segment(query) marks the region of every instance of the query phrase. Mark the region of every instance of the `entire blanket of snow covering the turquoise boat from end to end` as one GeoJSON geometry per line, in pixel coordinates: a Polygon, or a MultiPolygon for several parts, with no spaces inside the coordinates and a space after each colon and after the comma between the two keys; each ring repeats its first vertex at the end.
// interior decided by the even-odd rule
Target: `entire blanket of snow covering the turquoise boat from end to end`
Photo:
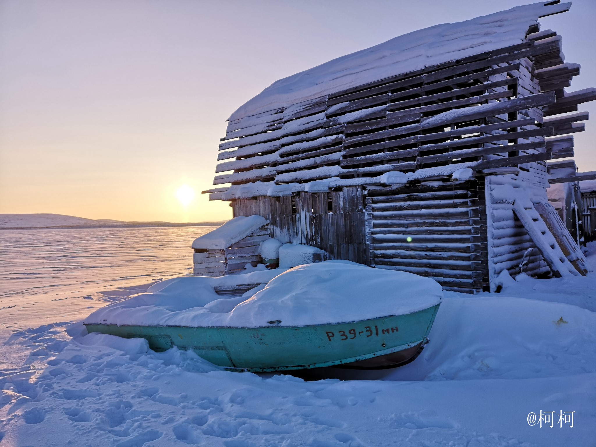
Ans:
{"type": "Polygon", "coordinates": [[[275,277],[265,288],[240,297],[216,294],[214,287],[222,284],[220,278],[189,276],[160,281],[148,293],[98,309],[85,323],[266,327],[268,321],[281,320],[283,326],[333,324],[417,312],[436,305],[443,296],[439,283],[430,278],[336,260],[285,272],[253,272],[242,275],[246,278],[240,281],[264,283],[267,275],[268,279],[275,277]],[[283,273],[277,275],[279,272],[283,273]]]}

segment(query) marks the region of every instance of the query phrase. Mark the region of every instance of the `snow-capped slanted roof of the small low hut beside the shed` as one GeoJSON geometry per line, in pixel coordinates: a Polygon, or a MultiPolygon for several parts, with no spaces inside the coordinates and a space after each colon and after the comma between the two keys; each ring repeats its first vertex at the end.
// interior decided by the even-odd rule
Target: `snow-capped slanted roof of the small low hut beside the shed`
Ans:
{"type": "Polygon", "coordinates": [[[262,216],[238,216],[213,231],[197,237],[193,241],[193,249],[227,249],[267,223],[268,221],[262,216]]]}

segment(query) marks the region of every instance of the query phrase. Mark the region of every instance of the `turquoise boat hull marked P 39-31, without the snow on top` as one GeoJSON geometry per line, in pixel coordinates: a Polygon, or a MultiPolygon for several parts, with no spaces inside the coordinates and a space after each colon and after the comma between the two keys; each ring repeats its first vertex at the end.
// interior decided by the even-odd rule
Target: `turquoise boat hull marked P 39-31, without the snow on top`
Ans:
{"type": "Polygon", "coordinates": [[[184,327],[85,324],[89,333],[143,338],[156,352],[177,346],[228,371],[266,373],[343,366],[392,368],[428,342],[439,304],[418,312],[339,324],[184,327]]]}

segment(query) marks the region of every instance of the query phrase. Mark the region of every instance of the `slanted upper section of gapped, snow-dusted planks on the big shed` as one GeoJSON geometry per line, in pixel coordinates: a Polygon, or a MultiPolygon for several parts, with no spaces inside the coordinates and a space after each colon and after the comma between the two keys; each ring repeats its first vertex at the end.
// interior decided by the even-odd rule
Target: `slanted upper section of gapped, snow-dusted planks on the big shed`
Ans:
{"type": "Polygon", "coordinates": [[[218,159],[232,160],[218,164],[217,172],[228,173],[213,183],[355,178],[470,161],[482,162],[480,171],[547,160],[552,151],[568,156],[572,139],[539,143],[582,131],[577,122],[586,117],[543,124],[536,110],[567,111],[593,99],[594,92],[566,94],[556,83],[579,72],[574,64],[560,63],[560,36],[529,37],[523,44],[231,122],[218,159]],[[542,68],[533,72],[533,63],[542,68]],[[476,107],[480,104],[491,107],[476,107]]]}

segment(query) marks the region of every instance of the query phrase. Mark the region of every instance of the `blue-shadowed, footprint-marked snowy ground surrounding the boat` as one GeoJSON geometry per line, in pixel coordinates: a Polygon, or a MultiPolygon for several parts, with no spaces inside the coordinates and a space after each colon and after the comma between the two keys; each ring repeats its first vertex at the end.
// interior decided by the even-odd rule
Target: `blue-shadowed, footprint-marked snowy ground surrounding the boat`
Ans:
{"type": "Polygon", "coordinates": [[[21,300],[0,310],[0,446],[594,446],[596,278],[519,279],[446,293],[418,359],[370,372],[229,373],[86,334],[93,309],[149,284],[96,293],[66,318],[64,302],[38,303],[42,318],[21,300]],[[541,411],[552,428],[528,424],[541,411]]]}

